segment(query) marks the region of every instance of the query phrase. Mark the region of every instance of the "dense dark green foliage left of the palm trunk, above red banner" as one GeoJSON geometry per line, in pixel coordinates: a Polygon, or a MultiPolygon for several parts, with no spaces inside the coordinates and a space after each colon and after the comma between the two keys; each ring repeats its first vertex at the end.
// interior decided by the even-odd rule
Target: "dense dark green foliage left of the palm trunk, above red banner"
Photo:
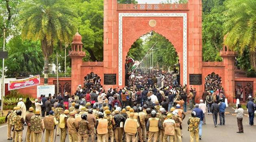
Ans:
{"type": "Polygon", "coordinates": [[[43,54],[38,41],[22,41],[16,36],[7,44],[7,72],[42,72],[43,54]]]}

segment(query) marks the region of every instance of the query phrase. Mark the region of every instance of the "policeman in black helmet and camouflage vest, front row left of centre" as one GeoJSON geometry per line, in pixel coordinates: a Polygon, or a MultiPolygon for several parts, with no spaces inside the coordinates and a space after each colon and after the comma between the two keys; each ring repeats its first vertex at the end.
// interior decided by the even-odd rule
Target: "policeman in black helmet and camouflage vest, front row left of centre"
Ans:
{"type": "Polygon", "coordinates": [[[81,118],[82,120],[78,122],[78,142],[82,142],[82,139],[87,142],[89,138],[87,114],[82,114],[81,118]]]}

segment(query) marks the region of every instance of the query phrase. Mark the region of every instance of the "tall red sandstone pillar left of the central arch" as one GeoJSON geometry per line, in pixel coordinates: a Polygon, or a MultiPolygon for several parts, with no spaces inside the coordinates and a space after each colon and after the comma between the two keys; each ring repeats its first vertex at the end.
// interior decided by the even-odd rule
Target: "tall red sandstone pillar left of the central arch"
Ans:
{"type": "MultiPolygon", "coordinates": [[[[116,74],[118,85],[118,39],[117,39],[117,0],[104,0],[104,74],[116,74]]],[[[102,85],[104,76],[102,77],[102,85]]],[[[104,85],[105,89],[117,85],[104,85]]]]}

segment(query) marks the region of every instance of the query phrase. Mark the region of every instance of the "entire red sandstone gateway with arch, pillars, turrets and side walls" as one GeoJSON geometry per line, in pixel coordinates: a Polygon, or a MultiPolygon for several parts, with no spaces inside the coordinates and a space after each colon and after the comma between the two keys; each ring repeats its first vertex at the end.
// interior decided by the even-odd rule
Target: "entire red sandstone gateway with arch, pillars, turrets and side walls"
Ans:
{"type": "MultiPolygon", "coordinates": [[[[202,62],[202,0],[189,0],[187,4],[117,4],[117,0],[104,0],[104,60],[82,61],[85,52],[82,51],[82,37],[77,32],[69,52],[72,58],[71,93],[84,83],[83,78],[91,72],[101,77],[101,83],[105,82],[104,88],[124,87],[127,53],[136,39],[152,30],[174,45],[180,59],[181,84],[191,84],[189,76],[202,75],[202,84],[192,86],[199,93],[197,101],[202,96],[205,77],[213,72],[221,77],[229,102],[233,102],[235,81],[250,81],[256,93],[256,78],[235,78],[236,52],[228,47],[223,46],[220,52],[223,62],[202,62]],[[106,78],[108,80],[104,81],[106,78]]],[[[54,80],[49,78],[49,84],[54,80]]],[[[67,82],[70,78],[59,80],[67,82]]],[[[35,89],[30,89],[36,96],[35,89]]],[[[26,91],[27,94],[28,90],[20,89],[20,92],[26,91]]]]}

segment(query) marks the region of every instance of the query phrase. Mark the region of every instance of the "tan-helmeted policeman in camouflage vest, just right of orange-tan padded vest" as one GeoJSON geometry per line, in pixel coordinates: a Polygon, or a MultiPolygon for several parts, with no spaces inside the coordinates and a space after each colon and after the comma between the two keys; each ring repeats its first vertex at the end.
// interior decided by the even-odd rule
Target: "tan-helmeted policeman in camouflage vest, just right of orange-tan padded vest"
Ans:
{"type": "Polygon", "coordinates": [[[108,137],[110,137],[110,142],[114,142],[114,132],[113,126],[115,126],[114,117],[111,116],[110,110],[105,110],[106,116],[104,118],[108,120],[108,133],[106,134],[106,140],[108,141],[108,137]]]}

